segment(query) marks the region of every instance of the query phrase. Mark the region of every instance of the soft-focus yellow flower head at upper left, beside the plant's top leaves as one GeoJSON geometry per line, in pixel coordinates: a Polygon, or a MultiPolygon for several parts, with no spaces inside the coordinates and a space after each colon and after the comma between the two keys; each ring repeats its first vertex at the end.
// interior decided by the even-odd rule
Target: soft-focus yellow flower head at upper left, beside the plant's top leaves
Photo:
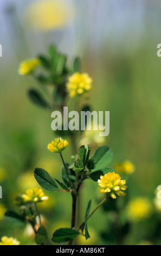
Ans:
{"type": "Polygon", "coordinates": [[[24,62],[20,63],[20,67],[18,69],[18,74],[20,75],[28,75],[32,71],[35,70],[35,68],[40,65],[40,60],[39,59],[29,59],[25,60],[24,62]]]}

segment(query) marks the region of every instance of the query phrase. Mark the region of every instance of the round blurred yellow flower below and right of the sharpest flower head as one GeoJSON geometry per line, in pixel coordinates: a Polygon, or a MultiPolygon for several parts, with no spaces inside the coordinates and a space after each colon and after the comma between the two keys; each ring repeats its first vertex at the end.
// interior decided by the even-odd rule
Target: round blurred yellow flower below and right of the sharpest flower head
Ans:
{"type": "Polygon", "coordinates": [[[127,217],[131,221],[140,221],[143,218],[149,217],[152,211],[152,206],[146,198],[138,197],[128,203],[126,212],[127,217]]]}

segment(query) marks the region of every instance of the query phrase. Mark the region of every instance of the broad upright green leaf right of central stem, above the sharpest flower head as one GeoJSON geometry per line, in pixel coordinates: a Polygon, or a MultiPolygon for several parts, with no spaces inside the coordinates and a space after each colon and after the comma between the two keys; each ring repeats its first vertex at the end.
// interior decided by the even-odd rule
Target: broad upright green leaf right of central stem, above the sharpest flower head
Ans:
{"type": "Polygon", "coordinates": [[[102,146],[98,148],[93,156],[94,162],[95,162],[95,168],[94,170],[101,170],[102,168],[106,167],[113,158],[113,151],[107,147],[102,146]]]}

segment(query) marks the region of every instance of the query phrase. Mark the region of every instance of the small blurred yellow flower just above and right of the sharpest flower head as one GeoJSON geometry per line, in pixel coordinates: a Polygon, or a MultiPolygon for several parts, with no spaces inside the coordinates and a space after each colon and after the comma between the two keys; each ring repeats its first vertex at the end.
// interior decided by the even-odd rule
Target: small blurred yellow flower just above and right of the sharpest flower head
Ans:
{"type": "Polygon", "coordinates": [[[122,163],[118,163],[115,166],[115,171],[117,173],[125,173],[132,174],[135,170],[134,164],[130,161],[124,161],[122,163]]]}

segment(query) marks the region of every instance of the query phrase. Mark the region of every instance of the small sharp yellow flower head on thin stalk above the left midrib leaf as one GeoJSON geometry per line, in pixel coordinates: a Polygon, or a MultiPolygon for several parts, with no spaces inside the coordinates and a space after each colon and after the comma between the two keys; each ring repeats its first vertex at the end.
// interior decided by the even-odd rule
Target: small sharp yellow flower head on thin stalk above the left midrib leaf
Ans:
{"type": "Polygon", "coordinates": [[[48,144],[48,150],[50,152],[61,153],[68,144],[69,143],[66,139],[56,138],[55,141],[51,141],[51,143],[48,144]]]}

